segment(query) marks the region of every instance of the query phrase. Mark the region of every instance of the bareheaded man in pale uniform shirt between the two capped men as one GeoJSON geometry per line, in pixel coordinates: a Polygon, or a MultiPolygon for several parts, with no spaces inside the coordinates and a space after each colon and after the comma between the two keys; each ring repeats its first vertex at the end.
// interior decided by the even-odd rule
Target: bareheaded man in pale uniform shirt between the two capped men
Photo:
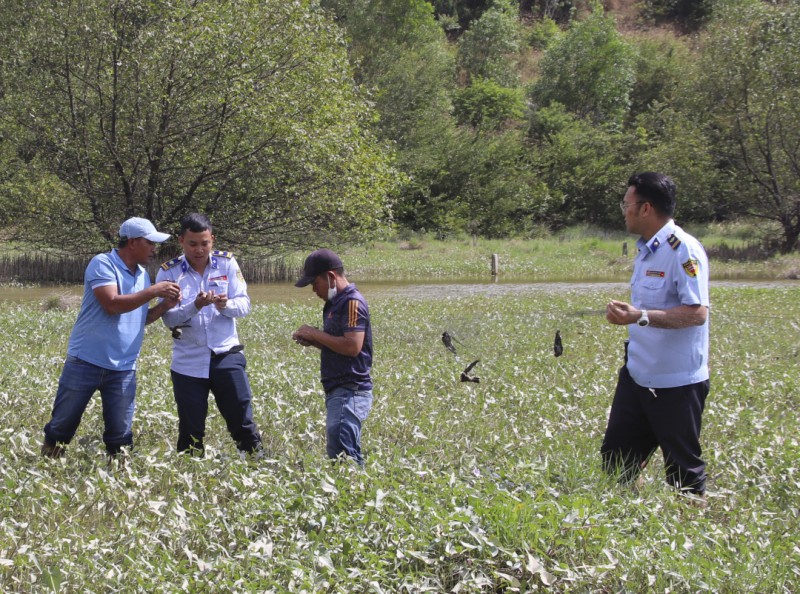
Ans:
{"type": "Polygon", "coordinates": [[[183,217],[178,240],[183,255],[162,264],[156,277],[181,288],[180,303],[163,317],[173,335],[177,449],[203,454],[210,391],[241,455],[260,453],[244,347],[236,332],[236,318],[250,313],[247,283],[233,254],[213,249],[205,215],[183,217]]]}

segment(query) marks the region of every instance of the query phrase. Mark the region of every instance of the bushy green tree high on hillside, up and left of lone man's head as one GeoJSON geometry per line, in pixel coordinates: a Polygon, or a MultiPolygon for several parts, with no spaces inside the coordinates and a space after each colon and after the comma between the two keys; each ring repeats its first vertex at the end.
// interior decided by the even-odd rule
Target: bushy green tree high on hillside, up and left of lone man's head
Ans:
{"type": "Polygon", "coordinates": [[[545,52],[531,90],[537,108],[560,103],[594,122],[621,123],[630,105],[634,52],[599,4],[545,52]]]}

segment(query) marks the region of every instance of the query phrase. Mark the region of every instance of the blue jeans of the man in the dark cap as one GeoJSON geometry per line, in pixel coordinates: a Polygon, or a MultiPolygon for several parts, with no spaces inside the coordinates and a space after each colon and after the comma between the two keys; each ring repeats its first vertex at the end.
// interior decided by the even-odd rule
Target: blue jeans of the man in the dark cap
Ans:
{"type": "Polygon", "coordinates": [[[334,388],[325,397],[325,408],[328,457],[336,458],[344,452],[364,466],[361,423],[372,408],[372,391],[334,388]]]}

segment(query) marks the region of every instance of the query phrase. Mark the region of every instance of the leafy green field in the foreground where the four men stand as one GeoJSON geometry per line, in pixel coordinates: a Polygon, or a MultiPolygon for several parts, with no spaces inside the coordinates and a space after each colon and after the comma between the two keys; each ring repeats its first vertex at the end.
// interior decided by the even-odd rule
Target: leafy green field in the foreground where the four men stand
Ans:
{"type": "Polygon", "coordinates": [[[0,591],[796,592],[798,290],[712,287],[706,509],[664,485],[660,459],[638,492],[600,471],[625,331],[584,313],[611,297],[627,295],[372,299],[365,471],[324,459],[318,355],[290,340],[320,303],[240,324],[258,462],[216,411],[205,459],[173,453],[170,340],[149,327],[122,466],[98,398],[66,458],[38,456],[76,310],[0,304],[0,591]],[[473,357],[481,383],[462,384],[473,357]]]}

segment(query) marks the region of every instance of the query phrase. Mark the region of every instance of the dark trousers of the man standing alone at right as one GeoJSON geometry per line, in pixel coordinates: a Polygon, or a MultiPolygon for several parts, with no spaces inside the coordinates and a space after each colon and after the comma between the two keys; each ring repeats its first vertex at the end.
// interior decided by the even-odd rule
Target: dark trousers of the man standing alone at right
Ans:
{"type": "Polygon", "coordinates": [[[632,481],[660,447],[667,482],[681,491],[705,493],[700,426],[708,391],[706,380],[653,393],[623,366],[600,448],[606,472],[620,473],[620,482],[632,481]]]}

